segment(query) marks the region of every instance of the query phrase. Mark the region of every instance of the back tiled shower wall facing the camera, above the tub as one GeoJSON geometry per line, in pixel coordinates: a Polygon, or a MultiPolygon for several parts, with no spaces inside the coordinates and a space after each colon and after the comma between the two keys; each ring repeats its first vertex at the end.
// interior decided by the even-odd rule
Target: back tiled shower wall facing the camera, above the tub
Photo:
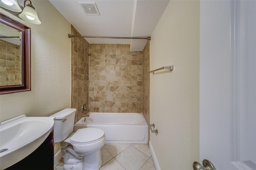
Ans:
{"type": "Polygon", "coordinates": [[[90,44],[91,112],[142,112],[142,51],[129,44],[90,44]]]}

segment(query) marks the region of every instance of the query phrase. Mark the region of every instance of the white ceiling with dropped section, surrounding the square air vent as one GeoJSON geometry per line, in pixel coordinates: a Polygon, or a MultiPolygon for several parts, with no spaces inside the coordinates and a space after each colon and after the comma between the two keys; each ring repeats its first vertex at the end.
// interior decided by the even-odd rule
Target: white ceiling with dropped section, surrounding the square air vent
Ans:
{"type": "MultiPolygon", "coordinates": [[[[50,0],[82,36],[149,37],[169,0],[50,0]],[[95,2],[100,16],[88,16],[80,5],[95,2]]],[[[67,35],[68,36],[68,35],[67,35]]],[[[89,43],[130,44],[142,51],[147,40],[86,38],[89,43]]]]}

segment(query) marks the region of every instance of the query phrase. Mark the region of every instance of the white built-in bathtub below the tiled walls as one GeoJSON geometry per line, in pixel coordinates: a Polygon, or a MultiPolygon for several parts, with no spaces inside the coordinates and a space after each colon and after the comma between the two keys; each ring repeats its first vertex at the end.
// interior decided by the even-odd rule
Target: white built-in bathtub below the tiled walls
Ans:
{"type": "Polygon", "coordinates": [[[80,128],[94,127],[104,130],[106,143],[148,143],[148,125],[142,113],[89,113],[74,125],[80,128]]]}

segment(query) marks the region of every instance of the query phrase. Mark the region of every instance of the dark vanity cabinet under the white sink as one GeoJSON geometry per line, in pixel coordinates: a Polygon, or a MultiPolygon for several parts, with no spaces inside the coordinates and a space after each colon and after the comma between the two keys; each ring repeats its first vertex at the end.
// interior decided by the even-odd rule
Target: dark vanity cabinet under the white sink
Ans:
{"type": "Polygon", "coordinates": [[[53,161],[54,138],[52,130],[46,140],[34,152],[5,170],[53,170],[53,161]]]}

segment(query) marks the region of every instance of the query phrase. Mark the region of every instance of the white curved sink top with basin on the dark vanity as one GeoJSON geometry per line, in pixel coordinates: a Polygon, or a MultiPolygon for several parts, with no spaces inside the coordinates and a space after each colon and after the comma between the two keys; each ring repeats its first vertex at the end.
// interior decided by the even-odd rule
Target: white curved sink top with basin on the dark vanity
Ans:
{"type": "Polygon", "coordinates": [[[52,131],[54,117],[21,115],[0,124],[0,170],[31,154],[52,131]]]}

